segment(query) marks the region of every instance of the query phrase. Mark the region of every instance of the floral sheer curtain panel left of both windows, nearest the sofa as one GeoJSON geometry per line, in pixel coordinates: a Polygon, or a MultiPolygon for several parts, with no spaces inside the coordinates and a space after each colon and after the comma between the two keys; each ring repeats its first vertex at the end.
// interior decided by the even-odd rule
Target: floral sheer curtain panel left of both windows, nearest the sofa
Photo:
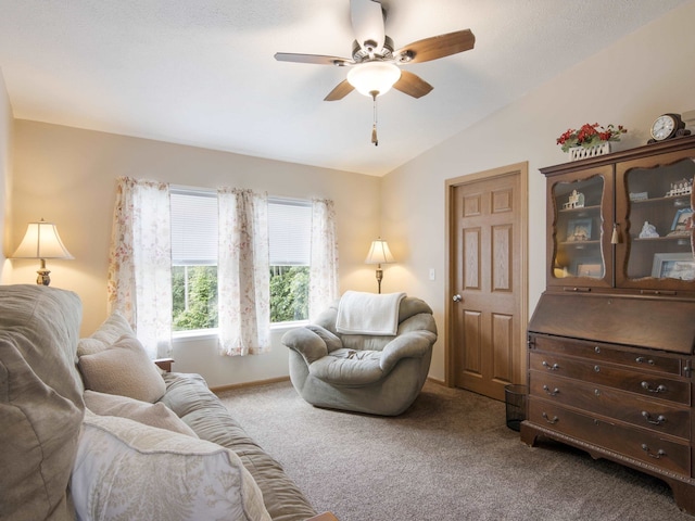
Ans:
{"type": "Polygon", "coordinates": [[[168,185],[117,179],[109,254],[109,312],[121,312],[151,358],[172,351],[168,185]]]}

